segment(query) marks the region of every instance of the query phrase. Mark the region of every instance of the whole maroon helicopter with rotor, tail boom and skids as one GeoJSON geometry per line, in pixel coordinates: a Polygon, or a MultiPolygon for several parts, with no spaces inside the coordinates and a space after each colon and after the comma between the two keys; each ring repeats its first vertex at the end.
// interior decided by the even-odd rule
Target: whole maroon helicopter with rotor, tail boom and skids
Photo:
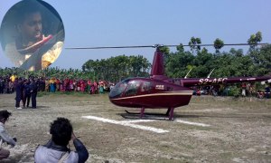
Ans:
{"type": "MultiPolygon", "coordinates": [[[[266,43],[258,43],[266,44],[266,43]]],[[[211,46],[204,44],[201,46],[211,46]]],[[[247,43],[224,45],[248,45],[247,43]]],[[[177,46],[177,45],[166,45],[177,46]]],[[[189,46],[189,45],[182,45],[189,46]]],[[[67,48],[67,49],[101,49],[101,48],[133,48],[154,47],[154,61],[149,78],[128,78],[110,91],[109,100],[120,107],[141,108],[139,118],[144,116],[145,109],[167,109],[165,115],[168,120],[173,120],[173,111],[177,107],[188,105],[192,98],[193,90],[189,87],[228,84],[237,82],[263,82],[271,80],[269,77],[224,77],[224,78],[178,78],[171,79],[164,72],[164,57],[160,51],[162,44],[152,46],[119,46],[119,47],[93,47],[93,48],[67,48]]],[[[270,82],[270,81],[269,81],[270,82]]],[[[127,113],[130,113],[126,111],[127,113]]],[[[123,116],[125,118],[125,116],[123,116]]]]}

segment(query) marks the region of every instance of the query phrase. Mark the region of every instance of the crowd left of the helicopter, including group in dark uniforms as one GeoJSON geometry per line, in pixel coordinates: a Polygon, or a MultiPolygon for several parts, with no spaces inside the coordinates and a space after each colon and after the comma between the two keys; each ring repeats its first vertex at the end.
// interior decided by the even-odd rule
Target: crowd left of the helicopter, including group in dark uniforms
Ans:
{"type": "Polygon", "coordinates": [[[0,93],[16,92],[17,109],[20,107],[20,101],[23,101],[23,108],[36,109],[36,96],[38,91],[85,91],[89,94],[95,94],[103,91],[111,91],[115,83],[107,83],[99,80],[91,82],[86,80],[72,80],[72,79],[55,79],[42,77],[29,77],[28,79],[17,78],[14,75],[6,75],[0,77],[0,93]],[[32,100],[32,107],[29,106],[30,98],[32,100]],[[26,105],[26,106],[25,106],[26,105]]]}

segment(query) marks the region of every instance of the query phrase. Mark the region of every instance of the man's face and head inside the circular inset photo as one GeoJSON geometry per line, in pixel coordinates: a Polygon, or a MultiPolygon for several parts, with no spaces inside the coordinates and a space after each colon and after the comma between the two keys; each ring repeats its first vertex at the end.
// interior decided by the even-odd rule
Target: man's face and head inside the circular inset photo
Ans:
{"type": "Polygon", "coordinates": [[[42,35],[42,15],[40,12],[29,13],[24,15],[21,24],[17,24],[18,31],[23,36],[24,42],[35,43],[42,35]]]}

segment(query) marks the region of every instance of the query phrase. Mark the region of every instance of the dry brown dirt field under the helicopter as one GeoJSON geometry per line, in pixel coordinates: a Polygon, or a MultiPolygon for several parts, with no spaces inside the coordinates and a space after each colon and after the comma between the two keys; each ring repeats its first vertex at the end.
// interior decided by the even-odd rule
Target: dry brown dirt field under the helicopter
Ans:
{"type": "MultiPolygon", "coordinates": [[[[57,117],[71,120],[76,137],[89,150],[87,162],[271,162],[271,99],[193,96],[189,105],[175,109],[173,121],[134,123],[167,130],[156,133],[82,118],[124,121],[120,114],[127,115],[125,110],[140,111],[113,105],[108,94],[44,95],[37,98],[36,110],[15,109],[14,96],[0,94],[0,110],[13,113],[5,129],[18,139],[14,148],[3,145],[11,151],[4,163],[33,162],[34,150],[51,138],[49,126],[57,117]]],[[[70,149],[74,149],[71,142],[70,149]]]]}

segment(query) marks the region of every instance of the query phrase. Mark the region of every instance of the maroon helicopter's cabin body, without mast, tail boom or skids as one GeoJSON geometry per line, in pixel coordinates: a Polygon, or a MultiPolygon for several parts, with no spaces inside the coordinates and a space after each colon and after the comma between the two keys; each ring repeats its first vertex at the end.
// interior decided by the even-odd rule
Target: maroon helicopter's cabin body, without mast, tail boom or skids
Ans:
{"type": "Polygon", "coordinates": [[[190,88],[170,82],[133,78],[119,82],[110,91],[109,99],[115,105],[122,107],[167,109],[187,105],[192,98],[192,92],[193,90],[190,88]],[[135,86],[130,86],[133,84],[135,86]],[[133,91],[129,92],[131,90],[133,91]],[[114,97],[114,94],[117,96],[114,97]]]}

